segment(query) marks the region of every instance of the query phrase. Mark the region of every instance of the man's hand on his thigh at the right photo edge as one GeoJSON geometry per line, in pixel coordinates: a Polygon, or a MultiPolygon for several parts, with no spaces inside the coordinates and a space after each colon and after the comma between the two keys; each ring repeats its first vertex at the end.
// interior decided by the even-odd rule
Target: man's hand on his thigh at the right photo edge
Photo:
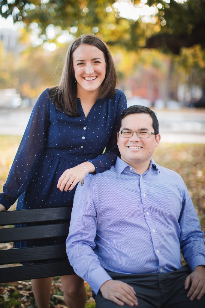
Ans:
{"type": "Polygon", "coordinates": [[[191,284],[191,288],[187,294],[190,297],[191,301],[193,301],[196,297],[197,299],[201,299],[205,294],[205,266],[199,265],[196,266],[194,271],[187,276],[185,280],[185,290],[191,284]]]}

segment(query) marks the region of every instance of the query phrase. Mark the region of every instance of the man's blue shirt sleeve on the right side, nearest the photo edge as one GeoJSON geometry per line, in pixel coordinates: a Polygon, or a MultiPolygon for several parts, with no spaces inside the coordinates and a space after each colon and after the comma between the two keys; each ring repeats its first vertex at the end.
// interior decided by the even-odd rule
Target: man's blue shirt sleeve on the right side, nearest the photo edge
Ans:
{"type": "Polygon", "coordinates": [[[193,271],[196,266],[205,265],[204,233],[185,184],[183,193],[179,242],[184,260],[193,271]]]}

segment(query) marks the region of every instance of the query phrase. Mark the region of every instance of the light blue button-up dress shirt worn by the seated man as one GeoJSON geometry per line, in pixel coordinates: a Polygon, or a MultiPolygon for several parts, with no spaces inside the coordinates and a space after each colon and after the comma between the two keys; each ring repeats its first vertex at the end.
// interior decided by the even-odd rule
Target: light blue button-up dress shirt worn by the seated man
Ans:
{"type": "Polygon", "coordinates": [[[179,269],[180,248],[193,271],[205,265],[203,232],[181,176],[151,160],[140,176],[117,158],[115,166],[78,184],[66,240],[74,271],[97,294],[124,274],[179,269]]]}

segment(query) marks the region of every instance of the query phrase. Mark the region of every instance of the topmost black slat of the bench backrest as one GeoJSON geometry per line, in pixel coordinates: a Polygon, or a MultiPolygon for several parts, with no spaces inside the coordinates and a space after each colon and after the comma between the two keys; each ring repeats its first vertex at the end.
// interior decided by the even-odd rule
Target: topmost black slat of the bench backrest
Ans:
{"type": "Polygon", "coordinates": [[[28,209],[2,212],[0,215],[0,226],[14,225],[37,222],[37,221],[55,221],[70,220],[72,207],[46,208],[46,209],[28,209]]]}

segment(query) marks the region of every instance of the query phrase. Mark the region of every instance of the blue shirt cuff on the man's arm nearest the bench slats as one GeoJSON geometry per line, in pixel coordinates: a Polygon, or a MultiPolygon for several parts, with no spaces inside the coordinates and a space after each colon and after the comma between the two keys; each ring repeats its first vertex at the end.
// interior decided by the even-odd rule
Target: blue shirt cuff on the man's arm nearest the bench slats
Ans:
{"type": "Polygon", "coordinates": [[[95,294],[98,294],[100,287],[104,284],[104,282],[108,280],[112,280],[112,278],[108,275],[103,267],[99,267],[89,274],[88,283],[95,294]]]}

